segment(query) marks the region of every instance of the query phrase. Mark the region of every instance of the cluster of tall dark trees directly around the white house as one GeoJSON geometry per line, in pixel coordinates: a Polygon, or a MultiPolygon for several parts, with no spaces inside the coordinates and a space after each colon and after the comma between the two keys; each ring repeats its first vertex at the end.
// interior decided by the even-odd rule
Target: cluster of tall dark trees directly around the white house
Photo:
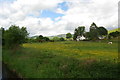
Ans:
{"type": "Polygon", "coordinates": [[[85,36],[86,40],[98,40],[99,37],[107,36],[108,31],[104,27],[97,27],[93,22],[90,26],[90,31],[85,32],[85,26],[80,26],[75,29],[73,40],[76,40],[77,36],[85,36]]]}

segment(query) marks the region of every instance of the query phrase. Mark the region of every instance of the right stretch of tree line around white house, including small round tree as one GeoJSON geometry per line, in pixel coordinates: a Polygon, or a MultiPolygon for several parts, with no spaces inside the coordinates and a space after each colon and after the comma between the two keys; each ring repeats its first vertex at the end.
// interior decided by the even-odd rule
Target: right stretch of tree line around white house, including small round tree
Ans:
{"type": "Polygon", "coordinates": [[[94,40],[100,40],[100,39],[109,40],[109,39],[120,36],[120,32],[115,31],[108,34],[108,30],[105,27],[103,26],[98,27],[93,22],[90,25],[89,32],[85,31],[85,26],[79,26],[78,28],[75,28],[73,37],[71,33],[66,34],[66,38],[68,39],[73,38],[73,40],[76,40],[78,36],[80,37],[84,36],[85,40],[88,40],[88,41],[90,40],[94,41],[94,40]]]}

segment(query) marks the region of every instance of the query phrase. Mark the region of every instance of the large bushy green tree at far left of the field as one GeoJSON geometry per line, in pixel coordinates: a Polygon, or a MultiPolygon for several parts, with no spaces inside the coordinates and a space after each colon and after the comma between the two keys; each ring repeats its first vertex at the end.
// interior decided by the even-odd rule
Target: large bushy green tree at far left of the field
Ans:
{"type": "Polygon", "coordinates": [[[19,28],[19,26],[11,25],[8,30],[4,32],[5,46],[7,48],[14,48],[24,43],[28,36],[28,32],[25,27],[19,28]]]}

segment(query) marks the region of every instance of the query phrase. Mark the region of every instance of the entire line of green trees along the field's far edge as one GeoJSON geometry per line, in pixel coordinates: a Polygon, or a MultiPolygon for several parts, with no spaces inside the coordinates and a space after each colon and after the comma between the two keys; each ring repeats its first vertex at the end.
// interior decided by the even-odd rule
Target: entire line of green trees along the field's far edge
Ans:
{"type": "Polygon", "coordinates": [[[66,39],[61,37],[53,37],[53,39],[49,39],[48,37],[44,37],[42,35],[34,38],[29,38],[29,33],[27,32],[26,27],[19,27],[16,25],[11,25],[9,29],[5,30],[1,27],[0,31],[2,32],[2,45],[6,48],[14,48],[22,43],[30,43],[30,42],[54,42],[54,41],[65,41],[65,40],[76,40],[78,36],[84,36],[85,40],[100,40],[102,39],[112,39],[114,37],[120,36],[120,32],[111,32],[108,34],[108,30],[105,27],[98,27],[94,22],[91,24],[89,28],[89,32],[85,31],[85,26],[79,26],[75,28],[74,34],[71,33],[66,34],[66,39]]]}

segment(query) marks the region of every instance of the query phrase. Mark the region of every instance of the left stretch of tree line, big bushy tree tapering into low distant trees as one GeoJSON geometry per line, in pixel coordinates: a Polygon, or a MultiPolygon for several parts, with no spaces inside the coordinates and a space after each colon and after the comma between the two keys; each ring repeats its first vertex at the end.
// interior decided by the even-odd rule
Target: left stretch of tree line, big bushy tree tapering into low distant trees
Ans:
{"type": "Polygon", "coordinates": [[[65,41],[63,37],[54,37],[50,40],[48,37],[42,35],[37,36],[35,39],[28,37],[26,27],[19,27],[11,25],[9,29],[5,30],[3,27],[0,28],[0,39],[2,40],[2,46],[5,48],[16,48],[20,47],[22,43],[33,43],[33,42],[54,42],[54,41],[65,41]]]}

